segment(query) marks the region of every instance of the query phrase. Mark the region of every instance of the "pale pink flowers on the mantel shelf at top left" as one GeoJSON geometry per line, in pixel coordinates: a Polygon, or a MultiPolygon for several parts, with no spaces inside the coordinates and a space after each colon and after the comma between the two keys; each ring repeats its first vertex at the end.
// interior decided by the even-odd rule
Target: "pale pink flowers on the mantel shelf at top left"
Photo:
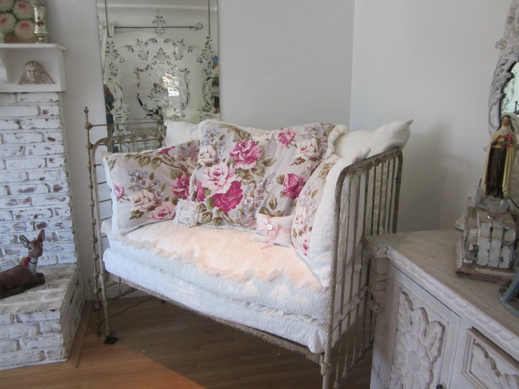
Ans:
{"type": "Polygon", "coordinates": [[[0,0],[0,32],[5,43],[34,43],[34,10],[30,0],[0,0]]]}

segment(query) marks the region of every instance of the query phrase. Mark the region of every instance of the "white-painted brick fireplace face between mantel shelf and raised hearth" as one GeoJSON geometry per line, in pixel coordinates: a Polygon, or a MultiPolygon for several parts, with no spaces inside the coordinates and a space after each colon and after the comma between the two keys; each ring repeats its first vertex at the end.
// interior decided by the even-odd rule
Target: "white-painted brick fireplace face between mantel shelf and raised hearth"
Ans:
{"type": "MultiPolygon", "coordinates": [[[[75,264],[61,94],[0,93],[0,271],[45,229],[39,265],[75,264]]],[[[1,319],[0,319],[1,322],[1,319]]]]}

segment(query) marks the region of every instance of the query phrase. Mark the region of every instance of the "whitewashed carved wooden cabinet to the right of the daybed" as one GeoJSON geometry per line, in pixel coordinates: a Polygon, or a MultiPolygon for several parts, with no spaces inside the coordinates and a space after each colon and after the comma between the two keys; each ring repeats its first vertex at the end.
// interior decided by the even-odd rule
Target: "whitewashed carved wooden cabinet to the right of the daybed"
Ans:
{"type": "Polygon", "coordinates": [[[519,319],[499,304],[496,284],[456,276],[459,238],[437,230],[368,239],[381,307],[372,389],[519,388],[519,319]]]}

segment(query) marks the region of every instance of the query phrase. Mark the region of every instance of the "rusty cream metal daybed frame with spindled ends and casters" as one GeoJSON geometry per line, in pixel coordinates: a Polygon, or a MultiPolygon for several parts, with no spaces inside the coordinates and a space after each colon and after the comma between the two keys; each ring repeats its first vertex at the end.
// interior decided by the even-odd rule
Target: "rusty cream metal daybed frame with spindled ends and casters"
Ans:
{"type": "MultiPolygon", "coordinates": [[[[90,142],[90,131],[98,125],[88,122],[87,112],[85,109],[95,268],[92,292],[97,310],[98,333],[101,335],[101,327],[104,323],[105,342],[111,343],[116,340],[109,323],[109,301],[113,298],[122,297],[133,290],[141,290],[159,297],[161,300],[183,306],[169,300],[166,296],[149,292],[140,285],[112,276],[105,271],[103,262],[103,252],[108,244],[106,237],[102,235],[101,223],[111,216],[109,214],[111,203],[104,173],[98,174],[102,172],[99,153],[111,152],[114,147],[125,152],[159,147],[165,136],[161,122],[158,122],[158,130],[154,132],[109,136],[92,143],[90,142]],[[150,145],[153,146],[150,147],[150,145]],[[121,287],[121,283],[126,287],[121,287]],[[112,289],[111,287],[114,285],[118,285],[116,296],[109,298],[108,289],[112,289]],[[103,315],[101,311],[103,311],[103,315]]],[[[106,128],[106,125],[99,126],[106,128]]],[[[335,190],[336,218],[333,221],[336,244],[334,244],[334,261],[331,264],[330,280],[330,285],[335,285],[335,288],[329,288],[325,352],[315,354],[310,352],[307,347],[291,340],[232,321],[212,316],[210,318],[287,350],[303,354],[307,359],[321,366],[323,389],[331,388],[331,383],[333,383],[333,388],[339,388],[341,380],[348,376],[350,369],[371,347],[374,339],[375,314],[370,309],[373,302],[369,285],[370,258],[362,249],[362,240],[367,235],[396,232],[402,162],[401,149],[393,148],[344,168],[338,178],[335,190]],[[360,267],[360,273],[350,271],[350,276],[347,276],[348,271],[344,266],[347,259],[353,261],[352,268],[360,267]],[[345,301],[344,296],[347,295],[350,298],[345,301]],[[337,338],[338,333],[341,336],[337,338]]],[[[197,313],[200,314],[200,312],[197,313]]]]}

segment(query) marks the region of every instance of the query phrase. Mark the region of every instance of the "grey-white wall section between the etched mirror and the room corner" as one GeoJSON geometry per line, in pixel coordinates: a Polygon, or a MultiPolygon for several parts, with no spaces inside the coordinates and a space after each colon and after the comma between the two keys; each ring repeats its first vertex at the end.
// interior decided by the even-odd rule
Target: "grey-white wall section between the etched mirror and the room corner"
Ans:
{"type": "Polygon", "coordinates": [[[354,1],[219,0],[223,120],[348,123],[354,1]]]}

